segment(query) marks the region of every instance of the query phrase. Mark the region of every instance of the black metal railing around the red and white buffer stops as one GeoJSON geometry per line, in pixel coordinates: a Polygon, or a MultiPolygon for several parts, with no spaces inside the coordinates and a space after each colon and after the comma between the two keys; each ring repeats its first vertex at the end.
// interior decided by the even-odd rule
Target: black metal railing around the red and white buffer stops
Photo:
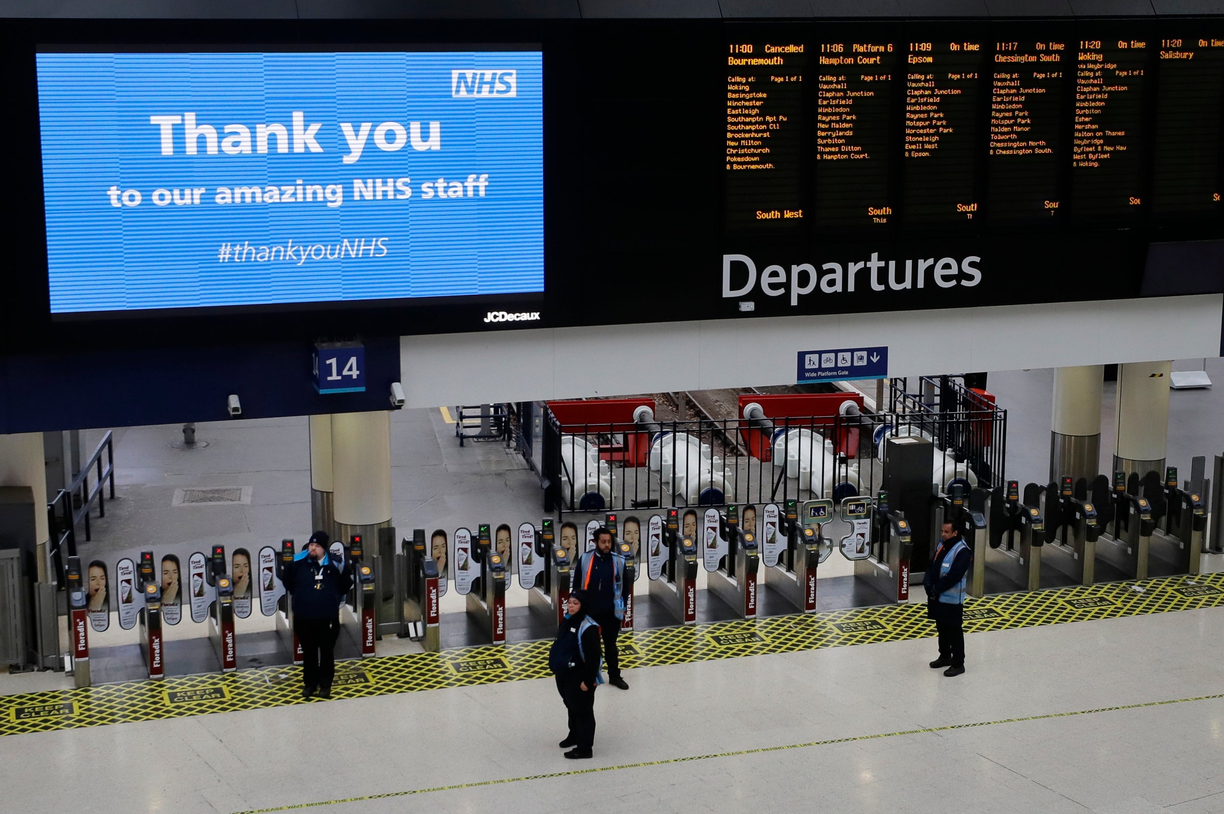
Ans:
{"type": "Polygon", "coordinates": [[[996,409],[677,420],[649,428],[562,426],[547,414],[545,509],[565,514],[874,495],[885,477],[884,443],[897,436],[934,443],[931,482],[944,488],[955,477],[985,487],[1004,477],[1006,413],[996,409]]]}

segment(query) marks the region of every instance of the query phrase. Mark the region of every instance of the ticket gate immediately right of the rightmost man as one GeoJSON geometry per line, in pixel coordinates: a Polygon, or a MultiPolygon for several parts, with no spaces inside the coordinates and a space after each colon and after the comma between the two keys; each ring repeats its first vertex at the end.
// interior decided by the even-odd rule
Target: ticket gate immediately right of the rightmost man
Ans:
{"type": "Polygon", "coordinates": [[[976,540],[971,595],[985,592],[989,568],[1020,590],[1036,591],[1042,584],[1042,548],[1045,523],[1039,506],[1020,499],[1020,481],[1007,481],[990,492],[987,534],[976,540]]]}

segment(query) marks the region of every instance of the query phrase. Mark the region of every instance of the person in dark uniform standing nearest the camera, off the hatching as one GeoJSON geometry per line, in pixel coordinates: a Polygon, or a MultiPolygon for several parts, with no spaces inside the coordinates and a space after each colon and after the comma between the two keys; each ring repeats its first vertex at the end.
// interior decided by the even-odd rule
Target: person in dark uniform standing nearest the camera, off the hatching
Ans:
{"type": "Polygon", "coordinates": [[[565,601],[565,618],[557,627],[557,639],[548,651],[548,667],[557,678],[557,692],[569,712],[569,734],[559,745],[573,747],[570,760],[591,756],[595,743],[595,688],[603,683],[600,673],[600,627],[588,616],[588,594],[573,591],[565,601]]]}

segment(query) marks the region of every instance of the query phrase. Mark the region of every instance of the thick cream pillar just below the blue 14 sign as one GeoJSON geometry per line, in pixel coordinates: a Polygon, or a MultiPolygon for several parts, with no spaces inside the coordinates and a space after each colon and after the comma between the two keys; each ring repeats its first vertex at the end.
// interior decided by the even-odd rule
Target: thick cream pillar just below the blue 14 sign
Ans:
{"type": "Polygon", "coordinates": [[[378,529],[390,526],[390,413],[332,416],[335,534],[360,534],[373,551],[378,529]]]}

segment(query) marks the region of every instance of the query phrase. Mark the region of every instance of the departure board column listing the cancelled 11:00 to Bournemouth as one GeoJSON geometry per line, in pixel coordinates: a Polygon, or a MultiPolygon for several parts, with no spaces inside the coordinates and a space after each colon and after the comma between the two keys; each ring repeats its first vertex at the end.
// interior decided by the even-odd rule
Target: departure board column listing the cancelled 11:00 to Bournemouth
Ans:
{"type": "Polygon", "coordinates": [[[803,220],[803,80],[807,48],[728,42],[725,217],[731,229],[803,220]]]}

